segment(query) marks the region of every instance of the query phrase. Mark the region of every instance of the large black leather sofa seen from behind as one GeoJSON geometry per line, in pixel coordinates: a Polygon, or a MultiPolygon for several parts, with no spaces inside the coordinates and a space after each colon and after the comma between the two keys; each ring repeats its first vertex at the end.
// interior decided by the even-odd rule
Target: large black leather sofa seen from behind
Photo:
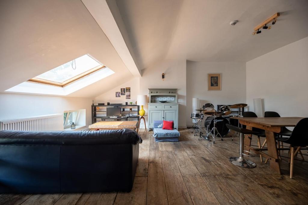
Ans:
{"type": "Polygon", "coordinates": [[[132,129],[0,131],[0,193],[129,192],[139,143],[132,129]]]}

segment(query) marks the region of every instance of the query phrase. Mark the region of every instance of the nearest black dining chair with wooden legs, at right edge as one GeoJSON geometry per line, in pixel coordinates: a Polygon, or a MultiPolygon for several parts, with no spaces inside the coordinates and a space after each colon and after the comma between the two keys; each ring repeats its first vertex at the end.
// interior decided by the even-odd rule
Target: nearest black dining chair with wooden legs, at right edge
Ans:
{"type": "Polygon", "coordinates": [[[290,144],[290,179],[293,177],[293,161],[294,156],[301,150],[302,147],[308,146],[308,117],[300,120],[296,126],[290,137],[276,137],[275,139],[290,144]],[[294,152],[294,147],[297,147],[294,152]]]}

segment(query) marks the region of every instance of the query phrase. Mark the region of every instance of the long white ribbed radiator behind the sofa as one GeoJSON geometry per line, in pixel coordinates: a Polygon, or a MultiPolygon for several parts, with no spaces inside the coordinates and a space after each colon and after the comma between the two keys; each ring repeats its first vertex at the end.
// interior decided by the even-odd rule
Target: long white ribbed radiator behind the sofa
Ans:
{"type": "Polygon", "coordinates": [[[0,130],[63,130],[63,114],[41,115],[13,120],[0,120],[0,130]]]}

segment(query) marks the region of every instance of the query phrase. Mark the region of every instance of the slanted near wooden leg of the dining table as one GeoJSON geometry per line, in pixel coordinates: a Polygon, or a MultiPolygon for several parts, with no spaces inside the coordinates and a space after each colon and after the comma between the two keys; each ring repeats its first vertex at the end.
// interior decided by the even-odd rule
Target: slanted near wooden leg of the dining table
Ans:
{"type": "Polygon", "coordinates": [[[281,174],[274,132],[265,130],[266,143],[270,159],[270,168],[281,174]]]}

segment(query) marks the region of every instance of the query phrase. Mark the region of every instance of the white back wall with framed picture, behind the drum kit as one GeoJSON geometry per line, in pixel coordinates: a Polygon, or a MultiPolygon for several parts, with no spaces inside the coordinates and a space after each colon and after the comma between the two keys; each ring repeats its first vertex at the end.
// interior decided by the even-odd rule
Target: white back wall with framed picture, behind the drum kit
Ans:
{"type": "Polygon", "coordinates": [[[245,63],[196,62],[187,61],[187,109],[186,122],[192,125],[190,114],[193,97],[199,98],[201,106],[217,104],[246,103],[246,66],[245,63]],[[207,74],[221,73],[221,91],[208,91],[207,74]]]}

